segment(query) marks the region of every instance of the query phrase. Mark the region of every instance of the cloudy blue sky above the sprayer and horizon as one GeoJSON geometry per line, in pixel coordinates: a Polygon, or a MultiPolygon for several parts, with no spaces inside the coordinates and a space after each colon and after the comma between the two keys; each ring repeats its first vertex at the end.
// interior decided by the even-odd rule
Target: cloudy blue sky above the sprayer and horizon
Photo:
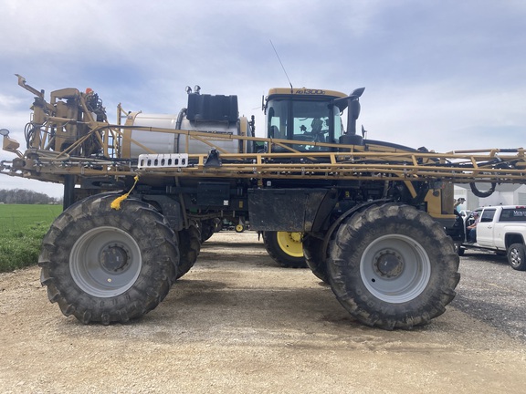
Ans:
{"type": "MultiPolygon", "coordinates": [[[[116,106],[177,113],[185,86],[237,94],[256,115],[288,86],[365,87],[368,138],[430,150],[524,147],[526,2],[522,0],[0,0],[0,128],[23,142],[32,96],[93,88],[116,106]]],[[[47,96],[48,98],[48,96],[47,96]]],[[[12,155],[2,151],[0,160],[12,155]]],[[[59,196],[0,177],[0,189],[59,196]]]]}

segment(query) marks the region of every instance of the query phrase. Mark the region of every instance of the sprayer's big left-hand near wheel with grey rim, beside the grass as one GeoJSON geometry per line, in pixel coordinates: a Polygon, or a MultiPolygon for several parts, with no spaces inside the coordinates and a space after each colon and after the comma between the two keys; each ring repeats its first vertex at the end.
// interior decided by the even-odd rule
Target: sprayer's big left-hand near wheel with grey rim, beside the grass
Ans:
{"type": "Polygon", "coordinates": [[[174,232],[145,202],[114,195],[71,205],[44,237],[38,264],[47,296],[84,324],[126,322],[168,294],[179,260],[174,232]]]}

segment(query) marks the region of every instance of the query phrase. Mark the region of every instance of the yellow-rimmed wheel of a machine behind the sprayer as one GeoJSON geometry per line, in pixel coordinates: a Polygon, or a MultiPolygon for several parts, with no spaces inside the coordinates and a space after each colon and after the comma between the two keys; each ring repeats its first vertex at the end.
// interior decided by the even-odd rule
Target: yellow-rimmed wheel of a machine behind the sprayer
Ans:
{"type": "Polygon", "coordinates": [[[276,263],[286,268],[306,268],[301,233],[264,232],[263,243],[276,263]]]}

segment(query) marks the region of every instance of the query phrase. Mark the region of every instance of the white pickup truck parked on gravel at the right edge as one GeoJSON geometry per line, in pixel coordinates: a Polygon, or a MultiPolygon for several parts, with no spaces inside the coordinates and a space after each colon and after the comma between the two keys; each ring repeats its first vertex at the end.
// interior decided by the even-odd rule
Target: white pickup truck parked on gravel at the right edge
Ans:
{"type": "Polygon", "coordinates": [[[499,205],[479,208],[465,221],[464,242],[458,248],[458,254],[466,249],[486,249],[508,256],[513,269],[526,271],[526,206],[499,205]],[[468,243],[468,226],[479,214],[475,243],[468,243]]]}

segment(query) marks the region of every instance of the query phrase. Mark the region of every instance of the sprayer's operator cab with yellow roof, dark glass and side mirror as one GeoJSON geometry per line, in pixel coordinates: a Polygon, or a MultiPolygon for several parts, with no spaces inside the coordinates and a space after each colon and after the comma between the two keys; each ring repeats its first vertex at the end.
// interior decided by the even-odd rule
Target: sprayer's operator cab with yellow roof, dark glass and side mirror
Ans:
{"type": "MultiPolygon", "coordinates": [[[[268,138],[315,142],[313,145],[295,145],[297,150],[331,151],[335,148],[323,144],[362,144],[362,136],[356,135],[356,119],[360,114],[359,98],[363,90],[355,89],[347,96],[322,89],[270,89],[263,107],[268,138]],[[346,129],[342,121],[345,109],[346,129]]],[[[279,151],[279,146],[274,150],[279,151]]]]}

